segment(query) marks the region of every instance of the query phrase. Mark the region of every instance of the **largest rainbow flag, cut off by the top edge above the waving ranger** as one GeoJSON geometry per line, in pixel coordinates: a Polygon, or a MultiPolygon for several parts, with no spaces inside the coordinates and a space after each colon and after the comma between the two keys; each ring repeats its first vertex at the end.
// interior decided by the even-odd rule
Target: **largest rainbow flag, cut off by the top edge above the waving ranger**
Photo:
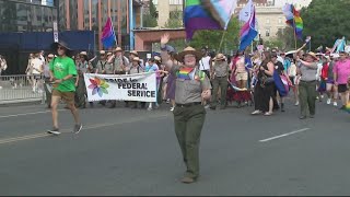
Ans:
{"type": "Polygon", "coordinates": [[[226,30],[237,0],[186,0],[184,24],[187,39],[198,30],[226,30]]]}

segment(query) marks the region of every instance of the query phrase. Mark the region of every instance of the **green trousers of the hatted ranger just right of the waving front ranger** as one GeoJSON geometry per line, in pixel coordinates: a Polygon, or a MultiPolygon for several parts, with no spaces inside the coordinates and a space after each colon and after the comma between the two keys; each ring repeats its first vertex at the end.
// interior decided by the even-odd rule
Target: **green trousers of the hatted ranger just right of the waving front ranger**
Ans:
{"type": "Polygon", "coordinates": [[[226,105],[226,92],[228,92],[228,77],[219,78],[215,77],[212,80],[212,100],[211,100],[211,106],[215,107],[218,104],[218,92],[219,88],[221,89],[221,97],[220,97],[220,104],[222,107],[226,105]]]}

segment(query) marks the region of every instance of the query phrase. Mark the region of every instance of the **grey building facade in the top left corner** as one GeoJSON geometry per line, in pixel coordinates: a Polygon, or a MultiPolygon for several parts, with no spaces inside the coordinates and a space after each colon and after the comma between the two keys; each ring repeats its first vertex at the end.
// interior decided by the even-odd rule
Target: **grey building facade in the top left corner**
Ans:
{"type": "Polygon", "coordinates": [[[51,32],[54,0],[0,0],[0,32],[51,32]]]}

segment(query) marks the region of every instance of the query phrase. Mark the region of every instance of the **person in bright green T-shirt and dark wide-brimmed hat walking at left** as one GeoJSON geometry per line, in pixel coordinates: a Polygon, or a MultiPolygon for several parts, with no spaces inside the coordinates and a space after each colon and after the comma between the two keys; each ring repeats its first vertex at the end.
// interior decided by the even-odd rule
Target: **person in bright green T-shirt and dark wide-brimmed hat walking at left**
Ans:
{"type": "Polygon", "coordinates": [[[52,129],[48,134],[60,135],[58,127],[58,112],[57,106],[60,100],[67,103],[74,117],[73,132],[80,132],[82,124],[79,118],[78,109],[74,106],[74,92],[75,85],[73,76],[77,76],[77,68],[73,59],[69,57],[71,49],[63,42],[54,43],[52,49],[57,51],[58,57],[50,62],[50,81],[54,82],[52,97],[51,97],[51,112],[52,112],[52,129]]]}

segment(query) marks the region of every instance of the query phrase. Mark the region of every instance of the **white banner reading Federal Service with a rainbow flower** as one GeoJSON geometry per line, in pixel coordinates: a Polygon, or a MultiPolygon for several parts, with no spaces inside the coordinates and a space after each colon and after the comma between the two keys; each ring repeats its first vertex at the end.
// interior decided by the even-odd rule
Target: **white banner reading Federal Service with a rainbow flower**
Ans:
{"type": "Polygon", "coordinates": [[[88,101],[156,102],[155,78],[155,72],[122,76],[85,73],[88,101]]]}

